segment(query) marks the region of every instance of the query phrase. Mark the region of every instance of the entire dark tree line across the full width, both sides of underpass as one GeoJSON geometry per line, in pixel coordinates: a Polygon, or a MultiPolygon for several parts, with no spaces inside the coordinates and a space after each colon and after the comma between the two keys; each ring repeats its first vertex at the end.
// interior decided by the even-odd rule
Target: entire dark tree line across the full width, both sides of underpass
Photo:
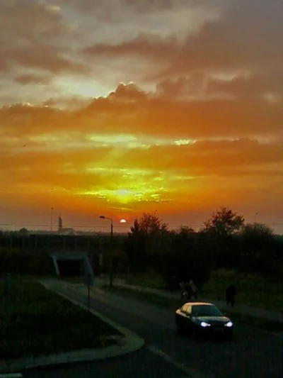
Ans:
{"type": "MultiPolygon", "coordinates": [[[[25,232],[22,234],[25,236],[25,232]]],[[[34,251],[26,240],[30,251],[26,254],[20,248],[22,243],[15,243],[11,248],[2,236],[0,274],[52,274],[48,238],[42,242],[45,248],[39,243],[34,251]],[[18,248],[14,248],[16,246],[18,248]]],[[[68,243],[74,244],[71,239],[73,237],[66,238],[68,243]]],[[[168,286],[175,277],[179,282],[193,279],[201,287],[209,274],[219,269],[258,274],[273,282],[283,277],[283,238],[262,223],[246,223],[242,215],[229,208],[213,213],[199,232],[188,226],[169,230],[168,224],[155,213],[143,213],[134,220],[131,232],[125,237],[114,236],[112,241],[105,239],[103,244],[96,238],[88,242],[88,238],[83,238],[77,248],[88,252],[97,274],[100,272],[98,255],[103,252],[103,272],[111,269],[134,274],[154,271],[162,275],[168,286]]],[[[57,248],[61,250],[62,245],[57,248]]]]}

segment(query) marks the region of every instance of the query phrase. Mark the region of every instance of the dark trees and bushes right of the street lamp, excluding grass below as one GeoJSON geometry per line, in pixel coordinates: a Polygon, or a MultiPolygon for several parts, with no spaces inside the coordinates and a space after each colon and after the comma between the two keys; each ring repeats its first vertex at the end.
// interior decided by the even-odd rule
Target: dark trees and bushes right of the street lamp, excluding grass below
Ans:
{"type": "Polygon", "coordinates": [[[155,214],[136,218],[124,250],[132,273],[154,269],[169,284],[193,279],[200,286],[216,269],[255,273],[278,281],[283,274],[283,238],[262,223],[246,223],[242,215],[221,208],[199,232],[190,227],[169,230],[155,214]]]}

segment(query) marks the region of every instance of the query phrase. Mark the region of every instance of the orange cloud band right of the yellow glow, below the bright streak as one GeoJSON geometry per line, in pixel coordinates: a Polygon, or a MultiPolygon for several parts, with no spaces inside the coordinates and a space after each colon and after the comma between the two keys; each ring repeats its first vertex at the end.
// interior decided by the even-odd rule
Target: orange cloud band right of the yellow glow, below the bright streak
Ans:
{"type": "MultiPolygon", "coordinates": [[[[205,141],[193,145],[156,146],[147,150],[129,150],[123,156],[128,167],[142,167],[144,162],[152,169],[178,169],[190,174],[229,174],[235,172],[254,172],[262,165],[282,165],[282,140],[262,145],[255,140],[219,142],[205,141]],[[156,159],[162,156],[162,159],[156,159]],[[235,169],[235,171],[234,171],[235,169]]],[[[117,160],[114,164],[119,165],[117,160]]],[[[265,170],[265,169],[264,169],[265,170]]],[[[274,170],[274,169],[273,169],[274,170]]],[[[258,172],[257,172],[258,171],[258,172]]],[[[283,168],[276,170],[282,172],[283,168]]]]}

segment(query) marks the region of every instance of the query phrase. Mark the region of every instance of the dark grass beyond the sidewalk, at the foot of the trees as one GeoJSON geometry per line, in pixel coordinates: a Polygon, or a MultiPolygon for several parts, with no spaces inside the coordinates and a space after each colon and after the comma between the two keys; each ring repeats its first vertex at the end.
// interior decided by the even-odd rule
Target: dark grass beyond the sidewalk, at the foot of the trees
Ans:
{"type": "MultiPolygon", "coordinates": [[[[165,282],[158,274],[125,274],[120,276],[127,284],[154,289],[164,289],[165,282]]],[[[283,312],[283,283],[271,284],[255,274],[236,274],[233,271],[212,272],[211,278],[200,289],[200,296],[207,299],[225,299],[226,287],[235,282],[237,304],[246,304],[266,310],[283,312]]]]}

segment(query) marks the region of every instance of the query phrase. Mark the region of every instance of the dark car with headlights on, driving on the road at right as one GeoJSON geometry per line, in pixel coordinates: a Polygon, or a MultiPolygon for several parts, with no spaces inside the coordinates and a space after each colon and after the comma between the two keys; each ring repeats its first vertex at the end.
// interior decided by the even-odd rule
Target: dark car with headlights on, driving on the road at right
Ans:
{"type": "Polygon", "coordinates": [[[231,339],[233,322],[214,306],[206,302],[188,302],[175,312],[178,333],[224,335],[231,339]]]}

